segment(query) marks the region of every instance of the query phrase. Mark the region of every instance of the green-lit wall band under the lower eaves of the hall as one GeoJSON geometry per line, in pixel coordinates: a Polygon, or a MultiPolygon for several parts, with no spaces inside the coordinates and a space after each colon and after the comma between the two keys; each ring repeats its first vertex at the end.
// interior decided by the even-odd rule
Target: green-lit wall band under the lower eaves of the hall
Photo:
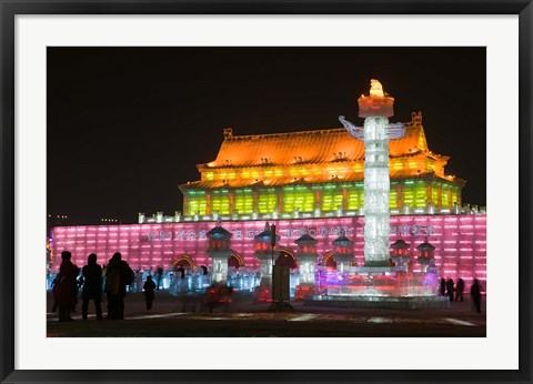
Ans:
{"type": "MultiPolygon", "coordinates": [[[[232,214],[234,211],[239,214],[252,214],[254,206],[260,214],[269,214],[278,210],[279,199],[281,199],[282,209],[280,213],[292,213],[296,208],[300,212],[311,213],[316,206],[322,212],[336,211],[338,206],[344,206],[348,211],[356,211],[364,206],[362,181],[278,188],[197,190],[187,192],[185,196],[185,215],[194,215],[197,211],[202,215],[214,211],[222,215],[232,214]],[[207,206],[209,201],[210,210],[207,206]]],[[[435,208],[452,208],[454,202],[461,204],[461,185],[441,180],[391,181],[389,198],[391,209],[401,209],[405,205],[424,209],[430,201],[435,208]]]]}

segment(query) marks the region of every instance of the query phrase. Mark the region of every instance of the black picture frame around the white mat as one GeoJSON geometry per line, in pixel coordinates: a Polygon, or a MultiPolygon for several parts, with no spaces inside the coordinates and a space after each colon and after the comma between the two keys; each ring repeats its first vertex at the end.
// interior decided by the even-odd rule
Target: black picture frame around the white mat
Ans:
{"type": "MultiPolygon", "coordinates": [[[[0,0],[2,383],[531,383],[532,0],[0,0]],[[21,371],[14,368],[14,18],[18,14],[517,14],[520,46],[520,343],[516,371],[21,371]]],[[[502,351],[504,353],[504,351],[502,351]]]]}

